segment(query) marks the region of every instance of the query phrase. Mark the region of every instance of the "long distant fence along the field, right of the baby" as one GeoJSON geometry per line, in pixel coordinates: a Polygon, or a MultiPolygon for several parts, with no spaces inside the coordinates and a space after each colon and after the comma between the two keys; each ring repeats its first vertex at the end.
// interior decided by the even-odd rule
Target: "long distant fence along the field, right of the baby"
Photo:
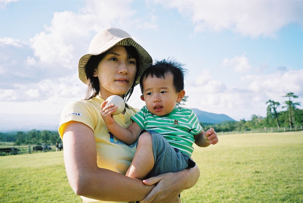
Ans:
{"type": "Polygon", "coordinates": [[[279,132],[288,132],[288,131],[300,131],[303,130],[303,126],[295,127],[264,127],[257,129],[246,129],[246,130],[233,130],[228,132],[217,132],[217,134],[226,135],[226,134],[245,134],[245,133],[279,133],[279,132]]]}

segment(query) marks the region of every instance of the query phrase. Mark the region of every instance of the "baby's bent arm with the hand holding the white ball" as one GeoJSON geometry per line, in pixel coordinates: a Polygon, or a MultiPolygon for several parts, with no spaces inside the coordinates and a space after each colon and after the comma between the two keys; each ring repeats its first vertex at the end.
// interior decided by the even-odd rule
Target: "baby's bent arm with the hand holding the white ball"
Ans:
{"type": "Polygon", "coordinates": [[[106,124],[106,127],[113,135],[115,135],[117,139],[126,144],[133,144],[138,140],[141,127],[136,122],[130,124],[127,129],[119,125],[117,122],[115,122],[114,116],[112,115],[112,113],[116,111],[117,107],[115,107],[114,104],[105,106],[106,103],[107,102],[104,101],[101,104],[101,116],[106,124]]]}

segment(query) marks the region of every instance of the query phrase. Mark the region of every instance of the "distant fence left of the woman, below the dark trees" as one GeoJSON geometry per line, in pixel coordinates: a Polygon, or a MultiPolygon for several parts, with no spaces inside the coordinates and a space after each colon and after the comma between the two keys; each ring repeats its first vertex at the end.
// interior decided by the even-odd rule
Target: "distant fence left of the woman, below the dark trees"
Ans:
{"type": "Polygon", "coordinates": [[[55,147],[49,145],[28,145],[28,146],[0,146],[0,156],[16,155],[16,154],[31,154],[38,152],[54,151],[55,147]],[[5,146],[5,147],[2,147],[5,146]]]}

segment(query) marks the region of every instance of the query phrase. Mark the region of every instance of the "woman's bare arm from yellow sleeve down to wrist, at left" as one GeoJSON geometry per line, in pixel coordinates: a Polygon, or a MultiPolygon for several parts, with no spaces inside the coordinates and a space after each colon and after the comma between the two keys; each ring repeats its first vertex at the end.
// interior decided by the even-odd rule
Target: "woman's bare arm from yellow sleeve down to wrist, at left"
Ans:
{"type": "Polygon", "coordinates": [[[83,123],[67,124],[63,144],[68,181],[77,195],[104,201],[136,201],[144,199],[154,187],[99,168],[94,133],[83,123]]]}

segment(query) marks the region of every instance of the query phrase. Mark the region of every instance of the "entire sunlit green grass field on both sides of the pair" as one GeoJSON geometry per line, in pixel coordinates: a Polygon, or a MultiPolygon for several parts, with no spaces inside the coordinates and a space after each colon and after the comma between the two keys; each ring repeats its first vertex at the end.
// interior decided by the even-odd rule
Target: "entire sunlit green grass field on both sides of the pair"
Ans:
{"type": "MultiPolygon", "coordinates": [[[[231,134],[195,147],[201,175],[189,202],[303,202],[303,132],[231,134]]],[[[68,184],[63,153],[0,157],[0,202],[82,202],[68,184]]]]}

